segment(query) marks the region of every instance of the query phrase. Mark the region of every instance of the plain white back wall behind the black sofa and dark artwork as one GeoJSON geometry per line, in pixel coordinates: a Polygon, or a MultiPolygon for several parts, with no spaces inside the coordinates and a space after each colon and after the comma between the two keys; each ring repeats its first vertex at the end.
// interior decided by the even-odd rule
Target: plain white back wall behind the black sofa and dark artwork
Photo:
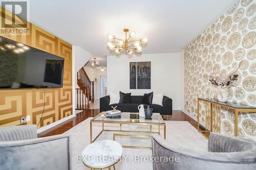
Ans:
{"type": "Polygon", "coordinates": [[[173,99],[173,109],[181,109],[180,53],[143,54],[140,56],[108,56],[108,91],[143,95],[164,92],[173,99]],[[151,61],[151,89],[130,89],[130,62],[151,61]]]}

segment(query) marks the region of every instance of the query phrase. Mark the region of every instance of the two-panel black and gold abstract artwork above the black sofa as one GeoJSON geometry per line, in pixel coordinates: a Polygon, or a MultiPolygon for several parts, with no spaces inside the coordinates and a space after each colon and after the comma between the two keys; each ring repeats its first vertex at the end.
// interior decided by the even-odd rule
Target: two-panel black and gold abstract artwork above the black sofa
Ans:
{"type": "Polygon", "coordinates": [[[130,89],[151,89],[151,62],[130,62],[130,89]]]}

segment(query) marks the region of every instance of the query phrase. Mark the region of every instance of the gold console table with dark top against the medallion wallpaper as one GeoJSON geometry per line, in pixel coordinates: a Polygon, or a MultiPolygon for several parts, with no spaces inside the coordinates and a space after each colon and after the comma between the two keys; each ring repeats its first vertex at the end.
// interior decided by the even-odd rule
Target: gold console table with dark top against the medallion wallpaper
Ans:
{"type": "Polygon", "coordinates": [[[256,107],[241,105],[233,102],[219,102],[217,99],[197,99],[197,130],[206,138],[210,132],[221,132],[221,107],[234,110],[234,136],[238,136],[238,112],[256,112],[256,107]],[[206,103],[205,130],[200,129],[200,102],[206,103]]]}

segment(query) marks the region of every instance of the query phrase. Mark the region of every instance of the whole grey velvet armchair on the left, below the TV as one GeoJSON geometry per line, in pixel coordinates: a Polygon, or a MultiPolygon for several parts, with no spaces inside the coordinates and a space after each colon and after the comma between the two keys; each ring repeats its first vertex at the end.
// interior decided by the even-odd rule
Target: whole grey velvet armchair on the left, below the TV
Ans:
{"type": "Polygon", "coordinates": [[[70,169],[70,136],[37,138],[36,129],[0,128],[0,169],[70,169]]]}

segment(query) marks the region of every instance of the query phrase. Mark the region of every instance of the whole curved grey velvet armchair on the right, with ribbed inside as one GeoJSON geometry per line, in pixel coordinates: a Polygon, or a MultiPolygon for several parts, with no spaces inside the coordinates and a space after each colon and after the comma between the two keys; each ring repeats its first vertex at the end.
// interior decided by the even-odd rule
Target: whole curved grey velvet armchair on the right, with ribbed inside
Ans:
{"type": "Polygon", "coordinates": [[[172,157],[170,160],[174,160],[173,163],[155,160],[154,170],[256,169],[256,142],[219,133],[210,133],[208,151],[181,148],[153,135],[152,152],[154,157],[172,157]]]}

